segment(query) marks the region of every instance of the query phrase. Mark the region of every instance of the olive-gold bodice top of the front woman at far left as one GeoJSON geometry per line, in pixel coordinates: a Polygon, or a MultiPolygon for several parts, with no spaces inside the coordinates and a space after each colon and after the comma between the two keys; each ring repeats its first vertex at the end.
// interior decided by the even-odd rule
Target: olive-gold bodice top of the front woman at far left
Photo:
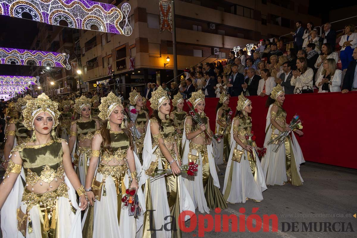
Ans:
{"type": "Polygon", "coordinates": [[[21,156],[27,184],[34,186],[38,182],[51,183],[57,177],[64,178],[62,141],[51,140],[39,146],[22,144],[14,148],[21,156]]]}

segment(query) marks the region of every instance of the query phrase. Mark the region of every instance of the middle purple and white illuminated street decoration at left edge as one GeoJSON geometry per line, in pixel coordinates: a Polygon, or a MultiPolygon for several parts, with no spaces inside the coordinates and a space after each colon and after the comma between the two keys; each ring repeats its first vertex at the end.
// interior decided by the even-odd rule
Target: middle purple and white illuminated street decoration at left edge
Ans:
{"type": "Polygon", "coordinates": [[[67,70],[70,70],[68,58],[69,55],[57,52],[0,47],[0,64],[66,67],[67,70]]]}

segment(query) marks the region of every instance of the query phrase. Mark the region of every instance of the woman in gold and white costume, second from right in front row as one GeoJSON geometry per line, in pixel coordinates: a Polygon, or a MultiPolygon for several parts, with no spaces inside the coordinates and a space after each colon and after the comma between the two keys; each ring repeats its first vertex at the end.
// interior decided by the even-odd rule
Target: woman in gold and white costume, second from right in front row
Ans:
{"type": "Polygon", "coordinates": [[[248,145],[245,135],[251,134],[252,102],[243,96],[238,96],[236,116],[230,130],[232,144],[229,155],[225,182],[224,198],[229,203],[245,203],[247,199],[256,202],[263,200],[262,192],[267,189],[262,167],[256,153],[256,144],[248,145]]]}

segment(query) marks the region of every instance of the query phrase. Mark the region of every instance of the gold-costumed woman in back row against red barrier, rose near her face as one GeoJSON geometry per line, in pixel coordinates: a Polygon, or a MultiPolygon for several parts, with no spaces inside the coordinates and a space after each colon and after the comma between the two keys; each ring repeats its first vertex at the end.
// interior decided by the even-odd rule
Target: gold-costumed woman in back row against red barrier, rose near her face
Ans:
{"type": "Polygon", "coordinates": [[[216,108],[216,135],[223,136],[222,142],[217,143],[217,146],[219,148],[219,157],[218,155],[216,155],[216,164],[223,164],[224,161],[228,161],[228,156],[231,148],[231,116],[229,115],[229,113],[233,112],[232,109],[228,107],[228,104],[229,97],[223,92],[220,95],[220,101],[218,102],[216,108]]]}

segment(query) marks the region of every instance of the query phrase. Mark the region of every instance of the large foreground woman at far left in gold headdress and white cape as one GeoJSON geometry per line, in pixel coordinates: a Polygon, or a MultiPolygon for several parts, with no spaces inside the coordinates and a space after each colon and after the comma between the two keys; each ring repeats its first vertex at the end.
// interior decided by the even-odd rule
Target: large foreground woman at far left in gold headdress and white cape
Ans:
{"type": "Polygon", "coordinates": [[[68,145],[55,135],[57,106],[42,93],[28,101],[22,112],[25,127],[34,133],[31,140],[11,152],[5,179],[0,184],[0,209],[6,214],[1,222],[11,221],[11,226],[3,227],[8,237],[82,237],[80,214],[88,201],[73,170],[68,145]],[[10,203],[3,206],[9,199],[10,203]]]}

